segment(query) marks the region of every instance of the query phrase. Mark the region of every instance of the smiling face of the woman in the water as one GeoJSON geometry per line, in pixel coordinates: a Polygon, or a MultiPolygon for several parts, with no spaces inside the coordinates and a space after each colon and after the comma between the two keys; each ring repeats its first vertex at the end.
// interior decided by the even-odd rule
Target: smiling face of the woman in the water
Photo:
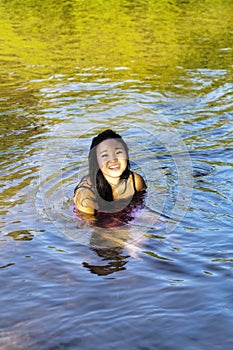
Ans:
{"type": "Polygon", "coordinates": [[[120,141],[107,139],[96,149],[99,168],[108,180],[119,178],[127,167],[127,153],[120,141]]]}

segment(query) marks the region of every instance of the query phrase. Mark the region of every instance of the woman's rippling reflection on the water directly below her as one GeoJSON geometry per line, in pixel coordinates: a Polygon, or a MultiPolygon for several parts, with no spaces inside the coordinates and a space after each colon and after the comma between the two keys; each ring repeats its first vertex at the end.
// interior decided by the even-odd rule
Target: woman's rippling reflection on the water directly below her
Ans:
{"type": "Polygon", "coordinates": [[[126,269],[127,259],[132,255],[136,256],[132,254],[134,248],[129,244],[132,240],[130,237],[132,228],[129,229],[128,224],[135,219],[138,212],[144,207],[144,195],[145,193],[140,193],[135,196],[129,205],[120,212],[97,213],[90,246],[101,258],[101,263],[83,262],[83,267],[99,276],[106,276],[126,269]]]}

